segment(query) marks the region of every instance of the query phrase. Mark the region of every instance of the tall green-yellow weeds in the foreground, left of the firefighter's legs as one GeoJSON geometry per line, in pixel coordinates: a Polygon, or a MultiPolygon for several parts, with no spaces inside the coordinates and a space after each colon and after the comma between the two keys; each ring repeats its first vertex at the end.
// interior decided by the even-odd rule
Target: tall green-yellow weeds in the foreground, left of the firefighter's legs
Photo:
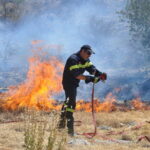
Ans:
{"type": "Polygon", "coordinates": [[[25,120],[24,143],[26,150],[64,150],[66,134],[58,133],[57,113],[28,110],[25,120]]]}

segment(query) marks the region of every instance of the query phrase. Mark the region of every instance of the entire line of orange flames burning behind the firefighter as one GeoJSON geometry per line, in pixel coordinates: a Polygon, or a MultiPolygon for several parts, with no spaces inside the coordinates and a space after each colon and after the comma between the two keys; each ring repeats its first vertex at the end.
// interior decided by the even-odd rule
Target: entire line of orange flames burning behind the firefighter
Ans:
{"type": "MultiPolygon", "coordinates": [[[[42,51],[42,41],[32,41],[35,46],[33,51],[39,51],[40,56],[47,56],[42,51]]],[[[58,49],[55,45],[52,48],[58,49]]],[[[29,71],[27,79],[18,86],[11,86],[5,93],[0,93],[0,97],[4,101],[0,101],[0,106],[6,110],[16,110],[19,108],[35,108],[37,110],[60,110],[61,105],[58,101],[53,100],[52,96],[62,91],[61,78],[63,71],[63,64],[51,57],[50,60],[42,60],[41,57],[36,56],[29,59],[29,71]]],[[[114,91],[118,93],[121,88],[115,88],[114,91]]],[[[96,112],[111,112],[117,110],[115,105],[116,98],[109,93],[103,102],[98,99],[94,100],[94,111],[96,112]]],[[[140,98],[132,100],[131,103],[136,110],[150,109],[141,102],[140,98]]],[[[84,100],[77,101],[76,110],[91,112],[91,102],[84,100]]]]}

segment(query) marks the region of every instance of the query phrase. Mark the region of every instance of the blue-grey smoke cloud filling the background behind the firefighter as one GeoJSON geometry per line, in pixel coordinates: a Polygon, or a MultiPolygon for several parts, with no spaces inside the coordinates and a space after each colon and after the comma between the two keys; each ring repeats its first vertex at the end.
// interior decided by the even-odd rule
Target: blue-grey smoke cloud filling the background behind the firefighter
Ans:
{"type": "MultiPolygon", "coordinates": [[[[105,96],[116,86],[126,87],[125,84],[132,84],[129,87],[136,89],[135,84],[145,78],[139,73],[144,58],[134,49],[128,24],[121,22],[117,13],[125,7],[126,0],[16,2],[17,19],[0,21],[0,72],[18,73],[19,81],[1,81],[1,86],[17,84],[24,79],[33,40],[41,40],[43,47],[48,45],[44,50],[64,63],[83,44],[91,45],[96,53],[91,61],[99,70],[108,73],[106,84],[96,85],[97,97],[105,96]]],[[[78,98],[88,99],[90,87],[81,82],[78,98]]],[[[129,92],[131,96],[127,98],[136,93],[135,90],[129,92]]]]}

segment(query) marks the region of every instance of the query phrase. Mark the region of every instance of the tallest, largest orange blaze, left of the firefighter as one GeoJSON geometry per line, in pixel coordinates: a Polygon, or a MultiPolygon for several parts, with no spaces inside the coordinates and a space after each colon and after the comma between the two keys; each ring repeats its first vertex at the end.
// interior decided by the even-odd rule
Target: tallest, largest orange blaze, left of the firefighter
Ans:
{"type": "Polygon", "coordinates": [[[52,95],[62,90],[61,76],[63,64],[56,58],[41,61],[39,57],[29,60],[29,71],[24,83],[10,88],[5,93],[3,108],[16,110],[22,107],[35,109],[60,109],[52,100],[52,95]]]}

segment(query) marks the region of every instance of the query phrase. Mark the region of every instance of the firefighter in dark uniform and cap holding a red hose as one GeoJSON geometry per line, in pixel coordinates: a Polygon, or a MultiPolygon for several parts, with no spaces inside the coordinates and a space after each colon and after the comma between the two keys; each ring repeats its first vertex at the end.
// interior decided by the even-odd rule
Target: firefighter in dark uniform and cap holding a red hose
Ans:
{"type": "Polygon", "coordinates": [[[100,80],[106,80],[107,74],[100,72],[89,60],[89,57],[95,54],[89,45],[83,45],[81,49],[72,54],[65,64],[63,72],[62,85],[65,91],[65,101],[62,106],[58,128],[65,128],[67,122],[68,134],[74,135],[74,117],[73,112],[76,107],[77,87],[80,80],[85,83],[97,83],[100,80]],[[83,75],[88,71],[91,75],[83,75]]]}

